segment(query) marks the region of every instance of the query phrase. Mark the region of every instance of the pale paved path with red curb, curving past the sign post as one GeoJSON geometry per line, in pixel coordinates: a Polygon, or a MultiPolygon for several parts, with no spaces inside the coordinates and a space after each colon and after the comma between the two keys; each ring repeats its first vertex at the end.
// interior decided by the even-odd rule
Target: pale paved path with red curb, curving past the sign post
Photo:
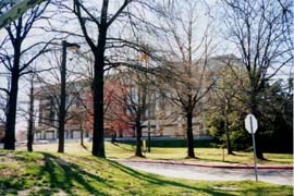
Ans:
{"type": "MultiPolygon", "coordinates": [[[[207,181],[255,181],[255,172],[252,168],[216,168],[209,166],[201,167],[168,162],[146,162],[127,159],[117,161],[135,170],[180,179],[207,181]]],[[[293,169],[260,169],[258,170],[258,180],[275,184],[293,185],[293,169]]]]}

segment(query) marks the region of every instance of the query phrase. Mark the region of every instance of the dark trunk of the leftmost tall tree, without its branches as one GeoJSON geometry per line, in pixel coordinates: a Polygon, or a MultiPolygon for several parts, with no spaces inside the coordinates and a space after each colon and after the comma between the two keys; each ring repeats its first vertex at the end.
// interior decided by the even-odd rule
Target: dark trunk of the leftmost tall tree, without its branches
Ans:
{"type": "MultiPolygon", "coordinates": [[[[14,64],[16,63],[15,61],[14,64]]],[[[19,69],[14,69],[11,76],[11,88],[5,122],[4,149],[15,149],[15,119],[19,94],[19,69]]]]}

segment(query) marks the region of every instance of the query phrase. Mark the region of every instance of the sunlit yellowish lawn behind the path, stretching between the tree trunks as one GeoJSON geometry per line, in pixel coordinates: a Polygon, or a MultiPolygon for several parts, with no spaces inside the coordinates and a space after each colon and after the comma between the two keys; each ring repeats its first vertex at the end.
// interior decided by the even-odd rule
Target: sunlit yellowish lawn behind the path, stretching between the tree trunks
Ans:
{"type": "MultiPolygon", "coordinates": [[[[181,142],[180,142],[181,143],[181,142]]],[[[82,148],[78,142],[66,143],[65,151],[70,154],[78,155],[89,155],[91,150],[91,144],[85,143],[87,149],[82,148]]],[[[155,144],[157,147],[151,147],[151,152],[144,154],[147,159],[155,160],[185,160],[185,161],[211,161],[211,162],[222,162],[223,161],[223,149],[213,148],[207,144],[198,144],[195,148],[195,155],[198,159],[186,159],[186,148],[181,147],[179,142],[175,147],[171,144],[163,144],[158,142],[155,144]],[[162,147],[167,145],[167,147],[162,147]]],[[[21,149],[26,150],[26,147],[21,149]]],[[[56,152],[58,149],[57,144],[46,144],[46,145],[34,145],[35,151],[47,151],[56,152]]],[[[135,145],[134,143],[122,144],[118,143],[115,145],[106,142],[106,155],[108,158],[112,159],[128,159],[134,157],[135,145]]],[[[230,163],[244,163],[254,164],[253,152],[234,151],[235,155],[226,155],[224,149],[224,161],[230,163]]],[[[292,154],[265,154],[266,161],[258,160],[259,164],[293,164],[292,154]]]]}

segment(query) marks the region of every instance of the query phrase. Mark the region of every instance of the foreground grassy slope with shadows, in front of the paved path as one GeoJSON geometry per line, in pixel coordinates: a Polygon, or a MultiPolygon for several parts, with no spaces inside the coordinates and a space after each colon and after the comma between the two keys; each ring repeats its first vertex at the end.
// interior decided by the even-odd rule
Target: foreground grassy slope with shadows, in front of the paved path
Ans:
{"type": "Polygon", "coordinates": [[[64,155],[0,150],[0,195],[292,195],[292,186],[254,181],[162,177],[93,157],[87,150],[76,154],[70,146],[64,155]]]}

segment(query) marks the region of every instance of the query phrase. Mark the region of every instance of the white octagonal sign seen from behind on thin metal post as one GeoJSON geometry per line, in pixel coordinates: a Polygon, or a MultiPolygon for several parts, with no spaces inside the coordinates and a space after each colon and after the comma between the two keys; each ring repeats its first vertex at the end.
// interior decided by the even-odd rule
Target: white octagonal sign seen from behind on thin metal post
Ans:
{"type": "Polygon", "coordinates": [[[255,168],[255,180],[258,181],[257,176],[257,161],[256,161],[256,146],[255,146],[255,136],[254,134],[257,131],[257,120],[253,114],[247,114],[245,118],[245,128],[248,131],[249,134],[253,136],[253,147],[254,147],[254,168],[255,168]]]}

